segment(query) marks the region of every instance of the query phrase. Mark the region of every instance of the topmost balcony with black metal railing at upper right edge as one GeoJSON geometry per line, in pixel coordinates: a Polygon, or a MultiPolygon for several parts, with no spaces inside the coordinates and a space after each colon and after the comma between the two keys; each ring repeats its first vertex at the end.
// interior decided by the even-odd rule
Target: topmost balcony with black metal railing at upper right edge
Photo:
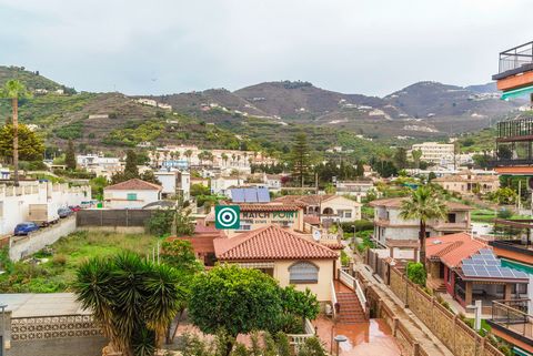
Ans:
{"type": "Polygon", "coordinates": [[[497,74],[493,80],[533,70],[533,41],[527,42],[500,53],[497,74]]]}

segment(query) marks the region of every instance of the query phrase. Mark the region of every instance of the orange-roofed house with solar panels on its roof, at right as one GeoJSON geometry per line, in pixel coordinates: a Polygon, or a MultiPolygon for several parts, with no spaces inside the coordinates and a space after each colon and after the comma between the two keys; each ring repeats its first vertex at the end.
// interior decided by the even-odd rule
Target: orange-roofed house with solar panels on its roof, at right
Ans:
{"type": "Polygon", "coordinates": [[[463,307],[481,299],[489,313],[493,301],[527,296],[529,276],[506,267],[484,241],[457,233],[430,237],[425,246],[428,285],[463,307]]]}

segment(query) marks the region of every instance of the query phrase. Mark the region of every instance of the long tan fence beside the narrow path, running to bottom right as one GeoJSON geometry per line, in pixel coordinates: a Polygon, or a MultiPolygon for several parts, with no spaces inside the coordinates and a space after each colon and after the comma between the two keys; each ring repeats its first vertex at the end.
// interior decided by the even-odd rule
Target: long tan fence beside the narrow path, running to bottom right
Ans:
{"type": "Polygon", "coordinates": [[[390,287],[455,356],[503,356],[484,337],[394,267],[390,268],[390,287]]]}

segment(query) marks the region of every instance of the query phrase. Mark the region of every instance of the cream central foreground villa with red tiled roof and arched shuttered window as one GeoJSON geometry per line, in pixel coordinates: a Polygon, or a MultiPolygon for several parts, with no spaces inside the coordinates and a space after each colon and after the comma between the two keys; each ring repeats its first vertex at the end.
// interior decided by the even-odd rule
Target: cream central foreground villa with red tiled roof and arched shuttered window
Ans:
{"type": "Polygon", "coordinates": [[[320,302],[331,302],[339,253],[305,235],[269,225],[233,237],[214,238],[213,245],[219,262],[261,269],[281,286],[309,288],[320,302]]]}

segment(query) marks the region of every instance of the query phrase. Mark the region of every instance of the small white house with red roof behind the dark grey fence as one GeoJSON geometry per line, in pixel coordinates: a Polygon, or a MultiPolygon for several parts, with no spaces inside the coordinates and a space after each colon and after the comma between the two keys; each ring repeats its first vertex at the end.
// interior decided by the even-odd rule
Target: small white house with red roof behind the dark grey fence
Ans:
{"type": "Polygon", "coordinates": [[[142,208],[161,200],[162,186],[139,179],[129,180],[103,189],[108,208],[142,208]]]}

